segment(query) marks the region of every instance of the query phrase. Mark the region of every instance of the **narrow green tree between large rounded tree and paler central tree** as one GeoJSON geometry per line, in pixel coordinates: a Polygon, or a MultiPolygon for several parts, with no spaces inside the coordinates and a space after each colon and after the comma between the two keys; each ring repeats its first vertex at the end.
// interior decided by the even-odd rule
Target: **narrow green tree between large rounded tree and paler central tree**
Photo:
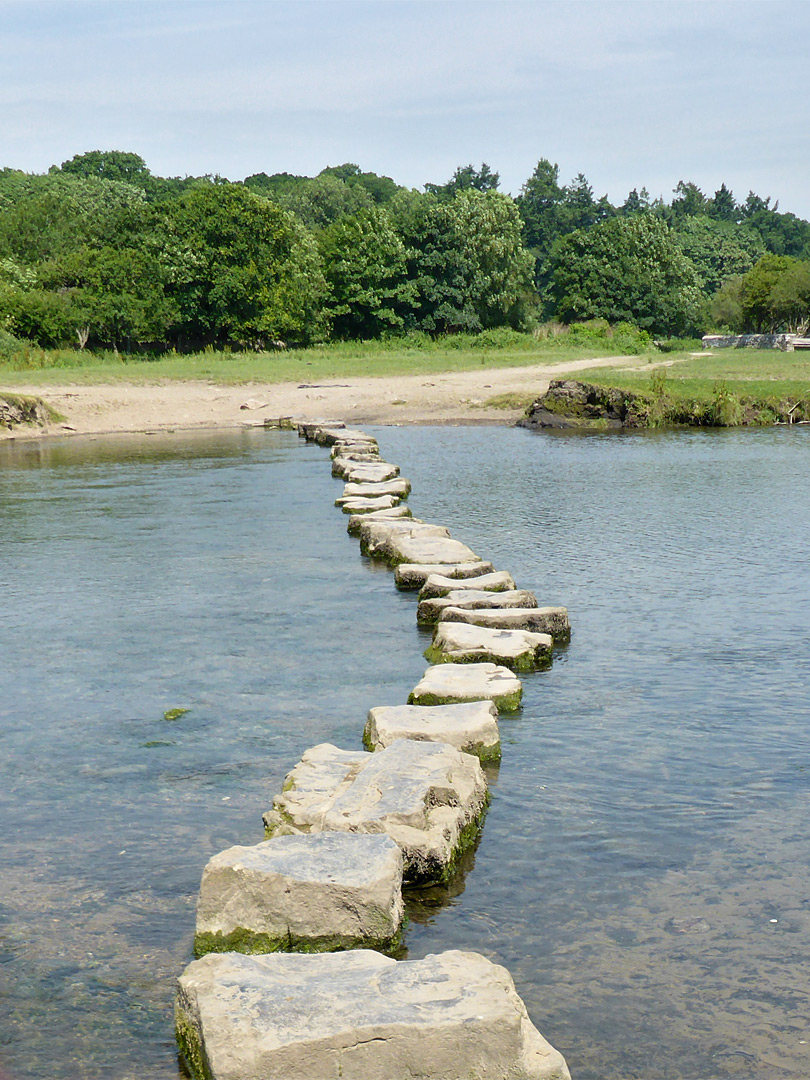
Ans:
{"type": "Polygon", "coordinates": [[[379,208],[341,218],[319,238],[328,286],[326,312],[338,338],[374,338],[401,329],[413,307],[407,253],[379,208]]]}

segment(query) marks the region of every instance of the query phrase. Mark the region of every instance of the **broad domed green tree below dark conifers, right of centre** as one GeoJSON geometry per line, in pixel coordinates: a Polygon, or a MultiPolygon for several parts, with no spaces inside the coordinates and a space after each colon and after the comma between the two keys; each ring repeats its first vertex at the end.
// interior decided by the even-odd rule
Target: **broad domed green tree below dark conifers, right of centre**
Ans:
{"type": "Polygon", "coordinates": [[[565,322],[631,322],[653,334],[696,329],[700,288],[665,221],[635,214],[564,238],[554,254],[551,294],[565,322]]]}

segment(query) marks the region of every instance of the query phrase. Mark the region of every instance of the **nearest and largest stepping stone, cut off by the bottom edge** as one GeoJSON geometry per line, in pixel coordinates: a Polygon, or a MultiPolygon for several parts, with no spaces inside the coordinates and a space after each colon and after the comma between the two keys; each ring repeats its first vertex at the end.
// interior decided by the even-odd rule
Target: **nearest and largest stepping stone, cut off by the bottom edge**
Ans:
{"type": "Polygon", "coordinates": [[[178,980],[175,1025],[194,1080],[570,1080],[507,969],[455,949],[211,953],[178,980]]]}

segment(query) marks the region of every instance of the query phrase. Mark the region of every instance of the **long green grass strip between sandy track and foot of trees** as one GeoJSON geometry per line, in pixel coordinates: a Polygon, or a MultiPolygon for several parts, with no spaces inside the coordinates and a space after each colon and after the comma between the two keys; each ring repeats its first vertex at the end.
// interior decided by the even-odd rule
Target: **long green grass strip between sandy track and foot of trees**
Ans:
{"type": "MultiPolygon", "coordinates": [[[[475,339],[449,339],[424,345],[402,341],[351,341],[291,349],[285,352],[200,352],[156,359],[78,350],[26,350],[0,362],[3,386],[48,387],[65,383],[161,382],[201,380],[219,384],[247,382],[322,382],[362,376],[436,375],[535,364],[561,364],[607,355],[607,343],[550,345],[529,335],[500,347],[475,339]]],[[[637,362],[638,357],[632,357],[637,362]]],[[[629,362],[631,357],[629,357],[629,362]]]]}

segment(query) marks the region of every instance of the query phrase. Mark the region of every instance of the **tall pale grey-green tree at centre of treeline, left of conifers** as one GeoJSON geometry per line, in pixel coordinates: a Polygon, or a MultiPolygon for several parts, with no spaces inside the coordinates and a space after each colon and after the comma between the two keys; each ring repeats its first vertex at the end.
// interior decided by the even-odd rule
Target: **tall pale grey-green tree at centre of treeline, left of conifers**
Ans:
{"type": "Polygon", "coordinates": [[[461,191],[426,200],[405,235],[411,248],[416,325],[432,334],[516,326],[531,288],[531,255],[512,199],[461,191]]]}

